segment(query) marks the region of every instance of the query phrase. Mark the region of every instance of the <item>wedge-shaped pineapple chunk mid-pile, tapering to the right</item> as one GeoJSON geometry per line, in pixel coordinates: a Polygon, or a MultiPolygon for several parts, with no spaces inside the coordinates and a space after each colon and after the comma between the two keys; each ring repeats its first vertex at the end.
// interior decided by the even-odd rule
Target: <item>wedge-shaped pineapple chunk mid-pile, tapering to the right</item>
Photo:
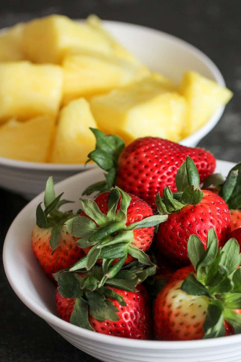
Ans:
{"type": "Polygon", "coordinates": [[[64,104],[79,97],[106,93],[147,76],[144,66],[95,52],[70,52],[63,62],[64,104]]]}

